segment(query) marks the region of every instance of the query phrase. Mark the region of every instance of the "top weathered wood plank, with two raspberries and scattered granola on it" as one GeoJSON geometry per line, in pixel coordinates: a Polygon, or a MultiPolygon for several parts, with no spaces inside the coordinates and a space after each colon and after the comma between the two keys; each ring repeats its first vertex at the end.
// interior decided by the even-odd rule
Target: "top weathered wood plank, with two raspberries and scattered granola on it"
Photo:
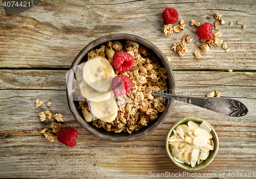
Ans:
{"type": "MultiPolygon", "coordinates": [[[[0,10],[0,67],[57,67],[68,68],[78,52],[90,41],[112,33],[129,33],[153,42],[172,58],[173,68],[256,69],[255,65],[255,8],[251,1],[177,2],[162,1],[41,1],[23,13],[6,16],[0,10]],[[143,8],[142,8],[143,7],[143,8]],[[176,8],[179,20],[187,25],[179,34],[165,37],[161,13],[166,7],[176,8]],[[201,51],[192,32],[192,19],[214,23],[214,14],[223,14],[225,24],[219,24],[222,39],[231,48],[225,52],[214,46],[208,53],[201,51]],[[232,27],[228,24],[233,21],[232,27]],[[246,25],[242,30],[241,21],[246,25]],[[170,48],[185,34],[194,41],[187,44],[184,57],[170,48]]],[[[214,30],[214,32],[217,32],[214,30]]]]}

